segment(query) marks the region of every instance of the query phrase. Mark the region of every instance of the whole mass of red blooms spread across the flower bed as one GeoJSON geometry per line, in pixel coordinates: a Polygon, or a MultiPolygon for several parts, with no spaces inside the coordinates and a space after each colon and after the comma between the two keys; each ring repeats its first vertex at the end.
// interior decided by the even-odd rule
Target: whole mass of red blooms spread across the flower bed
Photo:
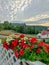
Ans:
{"type": "MultiPolygon", "coordinates": [[[[17,35],[17,34],[15,34],[17,35]]],[[[19,56],[24,55],[24,50],[26,48],[30,49],[30,52],[33,51],[33,49],[35,48],[35,52],[36,53],[40,53],[41,49],[44,49],[44,52],[49,53],[49,45],[46,44],[45,42],[40,42],[38,44],[35,44],[37,42],[36,38],[28,38],[24,40],[24,34],[21,34],[19,36],[19,39],[14,39],[11,41],[10,44],[8,44],[6,41],[3,43],[3,47],[5,47],[7,50],[8,49],[12,49],[15,50],[14,54],[15,56],[18,58],[19,56]],[[28,42],[26,42],[26,40],[28,42]]]]}

